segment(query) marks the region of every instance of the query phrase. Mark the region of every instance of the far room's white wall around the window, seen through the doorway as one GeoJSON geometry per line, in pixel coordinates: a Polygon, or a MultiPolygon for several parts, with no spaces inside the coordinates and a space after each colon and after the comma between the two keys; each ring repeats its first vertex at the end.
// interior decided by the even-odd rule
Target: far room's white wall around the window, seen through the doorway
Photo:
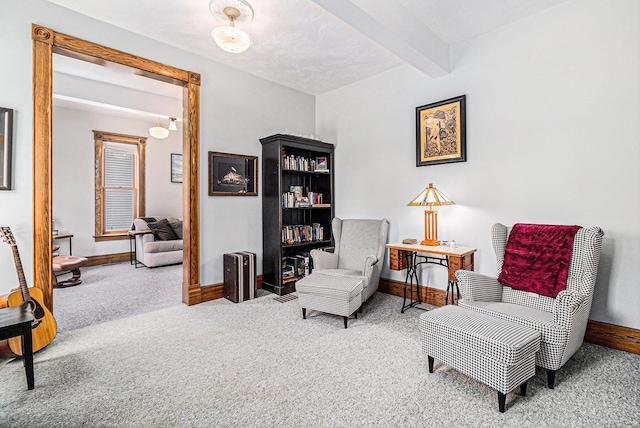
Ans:
{"type": "MultiPolygon", "coordinates": [[[[179,101],[176,101],[180,104],[179,101]]],[[[74,255],[129,251],[127,239],[95,242],[95,178],[93,130],[147,138],[145,184],[147,215],[182,217],[182,185],[171,183],[171,153],[182,152],[180,130],[164,140],[149,136],[153,120],[108,116],[104,113],[53,109],[53,220],[60,234],[73,234],[74,255]]],[[[166,126],[166,125],[165,125],[166,126]]],[[[60,254],[68,242],[58,240],[60,254]]]]}

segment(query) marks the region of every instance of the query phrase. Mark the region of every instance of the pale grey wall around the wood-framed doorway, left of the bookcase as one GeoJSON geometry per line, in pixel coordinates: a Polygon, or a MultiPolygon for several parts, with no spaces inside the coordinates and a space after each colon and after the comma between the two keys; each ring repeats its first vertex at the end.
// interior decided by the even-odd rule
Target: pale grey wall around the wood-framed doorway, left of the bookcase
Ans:
{"type": "MultiPolygon", "coordinates": [[[[0,192],[0,224],[11,226],[32,276],[32,98],[31,24],[48,26],[95,43],[201,75],[200,105],[200,281],[222,282],[223,254],[238,250],[259,255],[262,221],[259,197],[209,197],[207,151],[261,155],[259,138],[285,128],[315,131],[314,97],[223,66],[177,48],[98,22],[44,0],[0,0],[0,105],[13,108],[14,190],[0,192]]],[[[261,171],[261,167],[260,167],[261,171]]],[[[17,285],[8,246],[0,247],[0,294],[17,285]]]]}

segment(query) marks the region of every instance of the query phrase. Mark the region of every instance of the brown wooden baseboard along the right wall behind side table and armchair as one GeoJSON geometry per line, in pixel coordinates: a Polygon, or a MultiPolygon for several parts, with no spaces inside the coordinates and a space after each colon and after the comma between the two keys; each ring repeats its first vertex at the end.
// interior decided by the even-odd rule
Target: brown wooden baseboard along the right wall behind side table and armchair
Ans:
{"type": "MultiPolygon", "coordinates": [[[[418,288],[423,302],[435,306],[444,306],[444,296],[446,294],[444,290],[424,286],[418,288]]],[[[403,290],[404,281],[380,278],[378,291],[402,297],[403,290]]],[[[619,351],[640,354],[640,330],[635,328],[589,320],[584,341],[619,351]]]]}

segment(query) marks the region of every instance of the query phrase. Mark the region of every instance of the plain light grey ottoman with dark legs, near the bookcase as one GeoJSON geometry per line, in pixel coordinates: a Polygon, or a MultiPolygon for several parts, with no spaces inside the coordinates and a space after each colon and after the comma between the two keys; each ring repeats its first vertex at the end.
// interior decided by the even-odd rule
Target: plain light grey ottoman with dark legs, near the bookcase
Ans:
{"type": "Polygon", "coordinates": [[[358,308],[362,304],[362,279],[337,275],[312,273],[296,282],[298,304],[302,308],[302,318],[307,318],[307,309],[340,315],[344,318],[344,328],[351,314],[358,318],[358,308]]]}

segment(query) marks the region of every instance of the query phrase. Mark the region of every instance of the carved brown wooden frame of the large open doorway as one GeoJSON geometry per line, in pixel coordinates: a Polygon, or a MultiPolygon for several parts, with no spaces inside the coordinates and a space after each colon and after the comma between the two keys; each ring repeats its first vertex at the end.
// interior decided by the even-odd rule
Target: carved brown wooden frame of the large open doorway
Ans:
{"type": "Polygon", "coordinates": [[[201,301],[199,221],[200,75],[31,25],[33,48],[33,284],[53,311],[51,266],[53,54],[114,66],[182,90],[182,301],[201,301]]]}

